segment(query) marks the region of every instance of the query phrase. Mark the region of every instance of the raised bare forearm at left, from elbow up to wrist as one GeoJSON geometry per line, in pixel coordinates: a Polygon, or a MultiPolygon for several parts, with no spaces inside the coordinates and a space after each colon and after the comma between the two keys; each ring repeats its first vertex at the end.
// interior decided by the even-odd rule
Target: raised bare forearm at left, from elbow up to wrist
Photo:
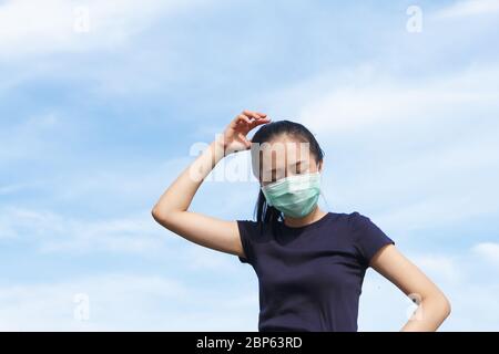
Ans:
{"type": "Polygon", "coordinates": [[[164,216],[174,211],[186,211],[204,178],[223,158],[223,152],[221,143],[211,143],[160,197],[154,206],[153,215],[164,216]]]}

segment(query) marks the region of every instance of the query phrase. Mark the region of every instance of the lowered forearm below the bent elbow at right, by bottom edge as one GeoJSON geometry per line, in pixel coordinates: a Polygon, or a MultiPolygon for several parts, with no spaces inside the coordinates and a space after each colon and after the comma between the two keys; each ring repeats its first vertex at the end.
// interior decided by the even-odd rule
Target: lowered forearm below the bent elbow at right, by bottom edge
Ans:
{"type": "Polygon", "coordinates": [[[450,314],[450,303],[444,295],[422,300],[401,332],[434,332],[450,314]]]}

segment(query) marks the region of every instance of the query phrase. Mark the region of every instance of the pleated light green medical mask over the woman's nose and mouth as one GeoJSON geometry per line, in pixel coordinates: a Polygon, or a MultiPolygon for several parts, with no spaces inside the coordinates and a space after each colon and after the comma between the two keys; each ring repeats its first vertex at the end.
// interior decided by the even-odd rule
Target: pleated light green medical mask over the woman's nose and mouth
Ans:
{"type": "Polygon", "coordinates": [[[320,195],[320,174],[310,173],[282,178],[262,187],[269,206],[285,216],[302,218],[312,212],[320,195]]]}

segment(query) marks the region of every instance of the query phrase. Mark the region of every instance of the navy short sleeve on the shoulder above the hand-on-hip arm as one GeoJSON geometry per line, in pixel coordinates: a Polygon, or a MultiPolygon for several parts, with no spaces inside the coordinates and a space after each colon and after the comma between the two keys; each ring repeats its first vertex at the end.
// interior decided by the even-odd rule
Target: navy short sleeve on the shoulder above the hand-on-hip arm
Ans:
{"type": "Polygon", "coordinates": [[[370,260],[386,244],[395,244],[368,217],[354,211],[349,215],[354,232],[355,249],[359,261],[367,268],[370,260]]]}

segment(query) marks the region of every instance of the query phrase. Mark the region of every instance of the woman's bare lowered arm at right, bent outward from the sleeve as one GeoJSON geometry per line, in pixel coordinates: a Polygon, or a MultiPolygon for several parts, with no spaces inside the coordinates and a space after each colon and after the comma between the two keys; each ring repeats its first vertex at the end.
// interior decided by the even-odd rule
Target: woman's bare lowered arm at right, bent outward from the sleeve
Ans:
{"type": "Polygon", "coordinates": [[[381,248],[369,266],[418,304],[400,331],[436,331],[450,314],[450,302],[438,287],[394,244],[381,248]]]}

